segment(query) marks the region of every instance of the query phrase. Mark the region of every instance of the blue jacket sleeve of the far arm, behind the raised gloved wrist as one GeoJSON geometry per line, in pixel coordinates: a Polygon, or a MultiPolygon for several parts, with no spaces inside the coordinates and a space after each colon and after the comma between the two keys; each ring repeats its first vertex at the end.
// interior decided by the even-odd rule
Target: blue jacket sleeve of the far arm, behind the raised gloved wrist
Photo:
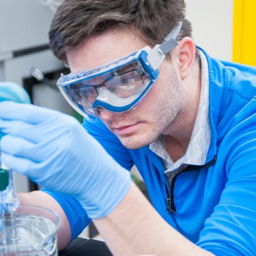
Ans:
{"type": "MultiPolygon", "coordinates": [[[[121,164],[121,166],[127,170],[131,169],[133,161],[126,148],[122,146],[118,138],[115,137],[115,135],[110,132],[101,121],[98,121],[97,123],[83,123],[82,125],[88,133],[96,138],[105,150],[112,155],[119,164],[121,164]]],[[[95,153],[97,154],[97,152],[95,153]]],[[[71,196],[60,194],[47,188],[43,188],[42,191],[52,196],[60,204],[61,208],[63,208],[68,218],[69,225],[71,226],[71,241],[74,240],[91,222],[84,208],[82,208],[79,201],[71,196]]]]}

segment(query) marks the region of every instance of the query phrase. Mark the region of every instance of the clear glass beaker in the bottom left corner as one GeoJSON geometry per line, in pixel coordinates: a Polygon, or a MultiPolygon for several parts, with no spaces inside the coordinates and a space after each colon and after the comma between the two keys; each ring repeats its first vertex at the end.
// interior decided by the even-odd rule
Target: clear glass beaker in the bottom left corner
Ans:
{"type": "Polygon", "coordinates": [[[3,222],[0,256],[58,255],[56,233],[60,218],[52,210],[19,205],[14,218],[15,232],[10,214],[5,214],[3,222]]]}

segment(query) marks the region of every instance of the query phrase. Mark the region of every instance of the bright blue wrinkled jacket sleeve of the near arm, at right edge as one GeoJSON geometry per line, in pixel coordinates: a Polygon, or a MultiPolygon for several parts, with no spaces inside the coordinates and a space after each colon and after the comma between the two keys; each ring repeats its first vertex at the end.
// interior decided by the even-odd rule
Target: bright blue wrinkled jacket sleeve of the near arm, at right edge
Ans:
{"type": "Polygon", "coordinates": [[[256,253],[256,114],[243,113],[230,120],[232,129],[220,144],[218,171],[226,185],[197,242],[217,256],[256,253]]]}

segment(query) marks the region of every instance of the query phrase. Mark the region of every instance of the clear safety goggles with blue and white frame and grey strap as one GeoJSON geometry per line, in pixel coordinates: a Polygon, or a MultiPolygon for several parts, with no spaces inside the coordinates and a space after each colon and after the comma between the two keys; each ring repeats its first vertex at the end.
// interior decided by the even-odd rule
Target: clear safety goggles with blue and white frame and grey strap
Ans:
{"type": "Polygon", "coordinates": [[[57,81],[69,104],[90,121],[101,110],[115,114],[135,109],[159,77],[159,66],[167,52],[177,46],[182,22],[153,49],[146,46],[101,67],[62,75],[57,81]]]}

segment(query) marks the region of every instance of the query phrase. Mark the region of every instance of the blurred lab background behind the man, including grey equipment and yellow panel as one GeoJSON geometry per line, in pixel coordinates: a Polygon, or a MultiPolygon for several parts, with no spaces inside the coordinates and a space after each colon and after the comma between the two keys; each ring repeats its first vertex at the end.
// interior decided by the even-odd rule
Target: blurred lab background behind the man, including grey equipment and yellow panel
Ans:
{"type": "MultiPolygon", "coordinates": [[[[256,66],[255,0],[185,1],[198,46],[219,59],[256,66]]],[[[49,26],[61,2],[0,0],[0,81],[16,82],[27,90],[35,105],[75,115],[81,121],[55,87],[60,73],[69,71],[48,47],[49,26]]],[[[135,168],[133,175],[140,183],[135,168]]],[[[18,174],[14,185],[18,192],[37,189],[18,174]]]]}

